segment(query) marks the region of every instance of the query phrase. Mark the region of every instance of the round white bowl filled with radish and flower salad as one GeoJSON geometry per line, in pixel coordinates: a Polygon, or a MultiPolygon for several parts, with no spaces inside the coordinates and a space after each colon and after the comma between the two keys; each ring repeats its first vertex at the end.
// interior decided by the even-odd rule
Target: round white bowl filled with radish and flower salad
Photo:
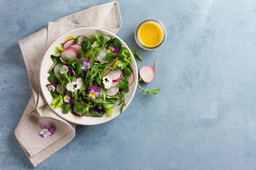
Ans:
{"type": "Polygon", "coordinates": [[[129,47],[113,33],[79,28],[58,38],[41,65],[40,84],[49,106],[67,121],[94,125],[121,114],[138,83],[129,47]]]}

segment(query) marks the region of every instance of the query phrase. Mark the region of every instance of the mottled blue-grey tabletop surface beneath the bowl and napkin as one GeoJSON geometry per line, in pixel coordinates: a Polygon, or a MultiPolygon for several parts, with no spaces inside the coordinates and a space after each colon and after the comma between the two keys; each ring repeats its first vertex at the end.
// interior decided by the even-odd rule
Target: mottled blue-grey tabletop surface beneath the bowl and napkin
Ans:
{"type": "MultiPolygon", "coordinates": [[[[68,14],[109,1],[0,1],[0,169],[33,169],[14,137],[32,95],[18,40],[68,14]]],[[[255,1],[118,1],[117,35],[154,66],[133,31],[167,29],[155,79],[114,120],[78,126],[73,141],[35,169],[255,169],[255,1]]]]}

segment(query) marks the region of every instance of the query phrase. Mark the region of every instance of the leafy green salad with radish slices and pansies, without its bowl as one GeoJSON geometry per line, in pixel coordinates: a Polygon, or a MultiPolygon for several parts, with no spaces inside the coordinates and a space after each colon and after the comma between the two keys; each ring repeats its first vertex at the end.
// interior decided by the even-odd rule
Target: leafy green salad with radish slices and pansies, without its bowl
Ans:
{"type": "Polygon", "coordinates": [[[63,113],[76,116],[112,116],[119,101],[122,113],[134,74],[132,55],[119,39],[97,31],[92,39],[69,36],[55,47],[51,58],[54,63],[46,86],[53,97],[52,108],[62,107],[63,113]]]}

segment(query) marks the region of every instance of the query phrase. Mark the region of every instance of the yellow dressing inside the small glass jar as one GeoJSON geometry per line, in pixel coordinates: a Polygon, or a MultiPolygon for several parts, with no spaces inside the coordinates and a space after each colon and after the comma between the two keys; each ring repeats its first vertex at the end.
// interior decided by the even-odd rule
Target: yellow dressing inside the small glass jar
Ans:
{"type": "Polygon", "coordinates": [[[138,37],[147,47],[155,47],[162,41],[162,30],[155,23],[145,23],[139,27],[138,37]]]}

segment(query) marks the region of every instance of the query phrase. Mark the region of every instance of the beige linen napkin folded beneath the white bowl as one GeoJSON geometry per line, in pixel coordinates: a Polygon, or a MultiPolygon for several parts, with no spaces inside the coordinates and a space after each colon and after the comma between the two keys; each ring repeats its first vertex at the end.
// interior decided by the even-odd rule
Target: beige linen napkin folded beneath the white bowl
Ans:
{"type": "Polygon", "coordinates": [[[70,30],[98,27],[116,33],[121,28],[121,24],[118,3],[110,2],[49,22],[47,27],[19,40],[33,96],[15,129],[15,137],[34,166],[67,145],[75,137],[76,129],[76,124],[63,120],[55,114],[42,95],[39,70],[46,49],[55,39],[70,30]],[[39,133],[45,130],[45,124],[51,126],[54,134],[48,129],[47,133],[52,132],[50,133],[52,135],[42,138],[43,135],[39,133]]]}

